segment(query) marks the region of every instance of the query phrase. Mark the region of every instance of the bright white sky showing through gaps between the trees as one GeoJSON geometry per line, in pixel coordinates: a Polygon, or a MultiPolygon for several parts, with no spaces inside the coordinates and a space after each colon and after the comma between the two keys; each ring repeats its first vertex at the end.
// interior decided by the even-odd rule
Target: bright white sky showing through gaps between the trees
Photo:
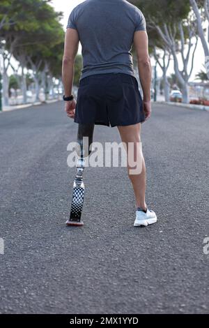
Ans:
{"type": "MultiPolygon", "coordinates": [[[[68,23],[68,17],[72,11],[73,8],[75,8],[79,3],[84,2],[85,0],[53,0],[52,1],[52,6],[54,6],[56,11],[62,11],[63,12],[63,20],[61,23],[63,24],[63,28],[67,26],[68,23]]],[[[143,8],[142,8],[143,11],[143,8]]],[[[79,53],[81,53],[82,48],[81,46],[79,47],[79,53]]],[[[179,57],[180,59],[180,57],[179,57]]],[[[152,59],[152,65],[155,65],[155,61],[152,59]]],[[[194,70],[192,73],[192,77],[190,80],[194,80],[196,73],[199,73],[200,70],[203,69],[204,65],[204,52],[203,48],[201,45],[201,41],[199,40],[197,49],[196,49],[196,54],[194,57],[194,70]]],[[[169,71],[168,74],[173,73],[173,61],[171,61],[171,64],[169,66],[169,71]]],[[[157,74],[160,76],[162,75],[162,71],[160,68],[157,69],[157,74]]]]}

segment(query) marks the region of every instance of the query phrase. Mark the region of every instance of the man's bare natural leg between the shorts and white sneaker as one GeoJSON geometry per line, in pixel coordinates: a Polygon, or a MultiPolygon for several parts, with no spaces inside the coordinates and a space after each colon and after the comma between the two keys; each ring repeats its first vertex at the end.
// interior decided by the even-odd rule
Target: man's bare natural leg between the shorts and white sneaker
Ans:
{"type": "MultiPolygon", "coordinates": [[[[132,182],[132,186],[134,188],[134,195],[136,198],[136,206],[141,207],[141,209],[146,210],[146,202],[145,202],[145,193],[146,193],[146,166],[144,161],[144,156],[142,151],[140,151],[140,156],[136,158],[137,147],[139,146],[139,142],[141,142],[141,124],[135,124],[132,126],[118,126],[118,131],[121,135],[122,142],[125,142],[127,147],[127,170],[128,175],[130,177],[130,181],[132,182]],[[134,145],[134,161],[137,159],[141,161],[141,173],[140,174],[131,174],[131,169],[129,163],[132,154],[129,154],[129,143],[132,142],[134,145]]],[[[138,153],[139,154],[139,153],[138,153]]]]}

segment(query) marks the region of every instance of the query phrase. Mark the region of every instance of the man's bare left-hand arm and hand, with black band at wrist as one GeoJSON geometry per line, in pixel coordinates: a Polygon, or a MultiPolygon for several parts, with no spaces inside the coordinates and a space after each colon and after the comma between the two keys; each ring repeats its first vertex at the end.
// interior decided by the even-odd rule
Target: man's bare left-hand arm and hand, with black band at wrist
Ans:
{"type": "MultiPolygon", "coordinates": [[[[79,46],[79,36],[76,29],[67,29],[65,33],[65,49],[63,54],[62,79],[65,90],[65,97],[72,95],[72,85],[74,78],[74,62],[79,46]]],[[[73,118],[75,115],[75,100],[65,103],[65,111],[73,118]]]]}

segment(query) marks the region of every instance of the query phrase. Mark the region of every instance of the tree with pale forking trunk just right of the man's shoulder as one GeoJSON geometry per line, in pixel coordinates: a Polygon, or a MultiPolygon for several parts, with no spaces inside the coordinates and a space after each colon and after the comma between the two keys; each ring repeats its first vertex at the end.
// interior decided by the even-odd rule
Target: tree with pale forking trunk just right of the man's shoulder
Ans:
{"type": "Polygon", "coordinates": [[[194,54],[198,41],[195,19],[190,15],[189,0],[136,0],[146,16],[150,40],[155,44],[153,34],[160,36],[160,47],[173,57],[176,77],[183,91],[183,102],[188,102],[188,81],[194,67],[194,54]],[[178,58],[180,54],[180,60],[178,58]],[[189,60],[192,59],[190,69],[189,60]],[[182,69],[183,67],[183,69],[182,69]]]}

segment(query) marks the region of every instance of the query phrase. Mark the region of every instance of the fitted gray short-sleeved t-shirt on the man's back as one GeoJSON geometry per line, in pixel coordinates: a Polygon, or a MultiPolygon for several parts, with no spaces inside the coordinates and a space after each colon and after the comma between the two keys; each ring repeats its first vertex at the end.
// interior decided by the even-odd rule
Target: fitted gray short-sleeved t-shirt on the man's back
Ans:
{"type": "Polygon", "coordinates": [[[146,31],[139,8],[125,0],[86,0],[72,10],[67,28],[77,29],[82,43],[81,80],[102,73],[134,76],[134,32],[146,31]]]}

